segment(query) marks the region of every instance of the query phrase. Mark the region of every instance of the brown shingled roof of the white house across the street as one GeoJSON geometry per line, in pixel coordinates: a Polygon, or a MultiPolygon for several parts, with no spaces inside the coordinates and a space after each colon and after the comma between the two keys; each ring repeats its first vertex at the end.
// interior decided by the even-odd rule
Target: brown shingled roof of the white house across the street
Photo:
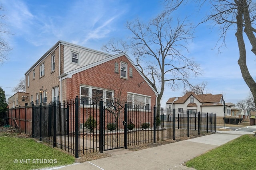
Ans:
{"type": "Polygon", "coordinates": [[[195,94],[194,92],[188,92],[184,96],[179,97],[178,100],[174,101],[175,98],[169,98],[166,104],[174,103],[174,104],[183,104],[193,96],[196,98],[200,103],[219,103],[222,99],[222,94],[195,94]]]}

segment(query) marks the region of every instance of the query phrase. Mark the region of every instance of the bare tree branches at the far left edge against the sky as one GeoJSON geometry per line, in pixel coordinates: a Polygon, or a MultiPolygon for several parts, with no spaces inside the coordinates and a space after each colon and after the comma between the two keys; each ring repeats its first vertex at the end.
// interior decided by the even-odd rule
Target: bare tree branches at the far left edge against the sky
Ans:
{"type": "MultiPolygon", "coordinates": [[[[0,6],[0,11],[3,10],[3,7],[0,6]]],[[[0,63],[3,63],[7,59],[8,52],[12,50],[9,47],[8,42],[4,39],[4,35],[10,35],[10,31],[6,29],[6,25],[3,20],[6,20],[5,15],[0,15],[0,63]]]]}

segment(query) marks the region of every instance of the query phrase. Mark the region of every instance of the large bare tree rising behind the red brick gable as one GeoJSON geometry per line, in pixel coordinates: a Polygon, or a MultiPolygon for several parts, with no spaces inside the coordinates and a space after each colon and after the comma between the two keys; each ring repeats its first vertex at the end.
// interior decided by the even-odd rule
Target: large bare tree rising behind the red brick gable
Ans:
{"type": "Polygon", "coordinates": [[[111,40],[102,50],[119,53],[129,49],[135,57],[136,66],[158,92],[157,105],[160,106],[166,84],[175,90],[180,84],[190,84],[191,74],[200,74],[199,65],[186,57],[186,43],[193,38],[190,26],[186,19],[173,20],[166,13],[159,14],[148,23],[136,19],[126,25],[132,33],[129,42],[111,40]]]}

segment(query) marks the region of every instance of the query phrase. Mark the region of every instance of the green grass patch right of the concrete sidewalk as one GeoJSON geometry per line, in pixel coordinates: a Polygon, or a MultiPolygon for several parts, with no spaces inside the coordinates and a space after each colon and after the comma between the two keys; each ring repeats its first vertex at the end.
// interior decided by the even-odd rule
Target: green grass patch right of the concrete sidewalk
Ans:
{"type": "Polygon", "coordinates": [[[254,135],[243,135],[186,162],[186,166],[197,170],[255,170],[255,146],[254,135]]]}

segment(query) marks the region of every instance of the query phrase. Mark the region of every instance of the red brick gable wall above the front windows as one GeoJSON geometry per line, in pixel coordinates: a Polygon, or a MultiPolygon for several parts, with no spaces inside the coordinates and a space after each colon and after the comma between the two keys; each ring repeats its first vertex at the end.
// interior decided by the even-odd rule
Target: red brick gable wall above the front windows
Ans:
{"type": "Polygon", "coordinates": [[[67,78],[66,89],[63,88],[63,91],[66,91],[66,98],[62,99],[74,99],[76,96],[79,96],[80,85],[85,85],[114,90],[115,96],[118,90],[122,88],[121,100],[124,103],[127,101],[127,92],[151,96],[151,106],[154,106],[156,95],[146,82],[140,84],[143,81],[145,82],[129,60],[125,56],[122,56],[74,74],[72,78],[67,78]],[[114,72],[115,63],[119,64],[120,70],[121,61],[127,63],[127,79],[120,78],[120,73],[114,72]],[[133,77],[129,77],[129,67],[132,67],[133,77]],[[140,84],[140,87],[138,84],[140,84]]]}

